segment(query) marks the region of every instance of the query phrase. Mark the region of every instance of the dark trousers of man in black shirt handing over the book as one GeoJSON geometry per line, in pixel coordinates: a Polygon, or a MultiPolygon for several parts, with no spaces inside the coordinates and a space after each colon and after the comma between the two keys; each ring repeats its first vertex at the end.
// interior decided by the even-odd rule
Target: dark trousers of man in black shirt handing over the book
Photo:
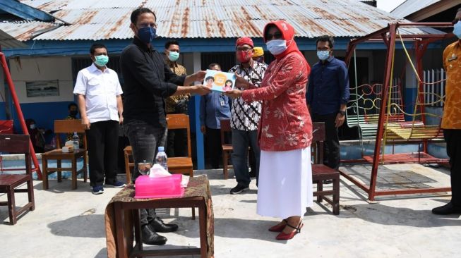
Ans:
{"type": "MultiPolygon", "coordinates": [[[[159,146],[164,146],[167,128],[156,128],[144,121],[130,121],[124,124],[124,130],[133,148],[134,170],[133,183],[140,176],[139,162],[155,163],[155,155],[159,146]]],[[[167,155],[168,156],[168,155],[167,155]]],[[[140,223],[147,225],[155,219],[155,209],[140,209],[140,223]]]]}

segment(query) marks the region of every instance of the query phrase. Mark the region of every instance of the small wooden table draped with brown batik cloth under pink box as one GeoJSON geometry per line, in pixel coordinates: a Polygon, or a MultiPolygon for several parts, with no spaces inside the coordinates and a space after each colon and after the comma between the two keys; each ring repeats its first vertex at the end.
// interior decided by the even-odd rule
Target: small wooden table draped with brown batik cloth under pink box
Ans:
{"type": "Polygon", "coordinates": [[[191,178],[184,197],[134,199],[134,186],[127,185],[106,207],[106,238],[108,257],[145,257],[200,254],[213,257],[214,217],[210,186],[206,176],[191,178]],[[139,209],[197,207],[200,225],[200,248],[143,250],[139,209]],[[135,238],[133,239],[133,227],[135,238]],[[136,245],[133,246],[133,240],[136,245]]]}

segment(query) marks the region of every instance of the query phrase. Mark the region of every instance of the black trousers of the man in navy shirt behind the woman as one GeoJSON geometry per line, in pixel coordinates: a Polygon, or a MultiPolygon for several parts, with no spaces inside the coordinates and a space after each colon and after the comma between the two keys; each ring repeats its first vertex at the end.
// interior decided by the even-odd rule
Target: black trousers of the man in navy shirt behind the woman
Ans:
{"type": "Polygon", "coordinates": [[[323,146],[324,164],[330,168],[337,169],[340,167],[340,137],[337,136],[335,127],[337,113],[328,115],[312,115],[313,122],[325,123],[325,145],[323,146]],[[326,162],[325,162],[326,161],[326,162]]]}

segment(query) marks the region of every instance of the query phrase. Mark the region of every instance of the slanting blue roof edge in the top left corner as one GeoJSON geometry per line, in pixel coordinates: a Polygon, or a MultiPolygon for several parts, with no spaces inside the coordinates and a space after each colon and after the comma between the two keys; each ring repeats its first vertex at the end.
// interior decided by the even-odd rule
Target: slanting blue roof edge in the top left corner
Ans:
{"type": "Polygon", "coordinates": [[[11,13],[13,16],[18,16],[19,18],[23,18],[25,20],[41,20],[44,22],[54,21],[54,17],[49,13],[15,0],[1,0],[0,10],[5,11],[6,13],[11,13]]]}

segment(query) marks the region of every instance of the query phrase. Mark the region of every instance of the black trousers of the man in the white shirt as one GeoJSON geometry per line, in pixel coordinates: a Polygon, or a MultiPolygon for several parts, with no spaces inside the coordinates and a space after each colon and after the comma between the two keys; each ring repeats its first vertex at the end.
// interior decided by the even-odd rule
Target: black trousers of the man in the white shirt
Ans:
{"type": "Polygon", "coordinates": [[[114,183],[117,176],[119,122],[109,120],[91,123],[90,130],[85,130],[85,133],[90,159],[90,185],[103,185],[104,175],[106,183],[114,183]]]}

